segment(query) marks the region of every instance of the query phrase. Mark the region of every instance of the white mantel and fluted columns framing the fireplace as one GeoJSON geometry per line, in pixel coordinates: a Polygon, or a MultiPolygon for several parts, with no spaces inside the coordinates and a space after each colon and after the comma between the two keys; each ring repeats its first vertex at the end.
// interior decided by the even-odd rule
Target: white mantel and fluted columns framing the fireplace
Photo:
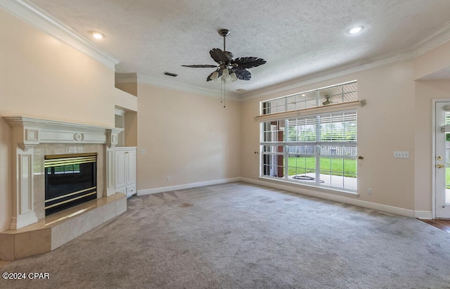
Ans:
{"type": "Polygon", "coordinates": [[[43,120],[34,117],[4,117],[11,127],[13,162],[13,210],[10,229],[20,229],[37,222],[34,211],[33,157],[34,146],[39,143],[99,143],[106,147],[107,188],[105,196],[114,191],[114,154],[118,134],[115,127],[99,127],[89,124],[43,120]]]}

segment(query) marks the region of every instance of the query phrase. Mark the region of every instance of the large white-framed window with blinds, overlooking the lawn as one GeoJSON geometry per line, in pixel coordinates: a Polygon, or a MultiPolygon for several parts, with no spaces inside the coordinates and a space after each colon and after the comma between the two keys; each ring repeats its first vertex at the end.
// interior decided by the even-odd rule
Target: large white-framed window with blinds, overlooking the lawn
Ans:
{"type": "MultiPolygon", "coordinates": [[[[356,87],[356,83],[352,86],[356,87]]],[[[342,85],[330,89],[344,91],[342,85]]],[[[309,93],[316,94],[317,103],[321,91],[309,93]]],[[[263,102],[263,112],[285,99],[272,100],[270,105],[263,102]]],[[[356,128],[356,110],[311,113],[262,122],[261,175],[356,192],[356,128]]]]}

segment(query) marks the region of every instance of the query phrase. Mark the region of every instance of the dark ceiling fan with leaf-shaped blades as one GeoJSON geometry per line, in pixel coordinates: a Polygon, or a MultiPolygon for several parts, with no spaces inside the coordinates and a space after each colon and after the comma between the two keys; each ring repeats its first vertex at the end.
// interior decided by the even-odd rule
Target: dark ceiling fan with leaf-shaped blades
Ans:
{"type": "Polygon", "coordinates": [[[236,81],[238,79],[250,80],[252,74],[248,71],[248,68],[256,68],[259,65],[266,63],[266,60],[257,57],[240,57],[233,59],[233,53],[226,51],[225,39],[230,34],[230,30],[221,29],[219,34],[224,37],[224,50],[211,49],[210,56],[218,65],[181,65],[186,68],[217,68],[210,75],[208,75],[206,81],[221,79],[236,81]]]}

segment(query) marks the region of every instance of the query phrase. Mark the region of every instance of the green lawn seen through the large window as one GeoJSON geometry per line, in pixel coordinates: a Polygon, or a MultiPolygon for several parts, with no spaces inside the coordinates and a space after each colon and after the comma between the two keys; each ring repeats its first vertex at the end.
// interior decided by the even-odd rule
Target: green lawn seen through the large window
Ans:
{"type": "MultiPolygon", "coordinates": [[[[321,158],[321,174],[331,174],[335,176],[356,177],[356,160],[347,158],[321,158]]],[[[288,167],[290,176],[295,174],[306,174],[316,171],[316,158],[314,157],[289,157],[288,167]]]]}

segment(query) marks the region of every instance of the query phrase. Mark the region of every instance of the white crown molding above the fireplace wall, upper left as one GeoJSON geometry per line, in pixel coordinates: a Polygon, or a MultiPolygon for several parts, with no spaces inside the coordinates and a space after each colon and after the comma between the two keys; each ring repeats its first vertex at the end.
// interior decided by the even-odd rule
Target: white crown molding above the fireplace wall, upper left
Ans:
{"type": "Polygon", "coordinates": [[[0,8],[115,70],[120,60],[26,0],[2,0],[0,8]]]}

